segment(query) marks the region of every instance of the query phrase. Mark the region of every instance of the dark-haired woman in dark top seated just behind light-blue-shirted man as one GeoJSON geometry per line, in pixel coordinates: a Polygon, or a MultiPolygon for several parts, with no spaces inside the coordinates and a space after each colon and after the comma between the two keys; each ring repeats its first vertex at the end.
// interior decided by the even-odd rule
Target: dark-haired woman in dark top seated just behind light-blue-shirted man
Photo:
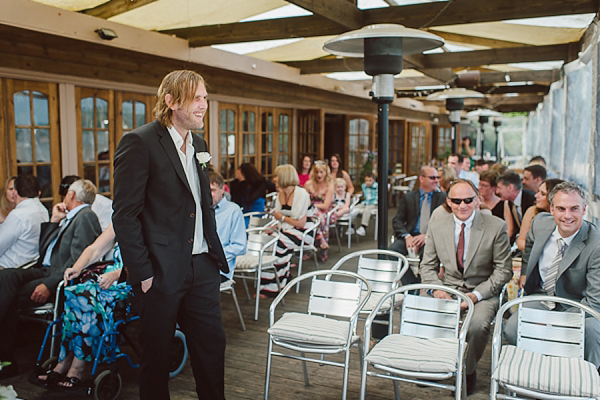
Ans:
{"type": "MultiPolygon", "coordinates": [[[[269,189],[269,183],[254,165],[243,163],[235,171],[235,179],[231,181],[231,201],[237,203],[244,213],[263,212],[269,189]]],[[[248,221],[246,221],[247,226],[248,221]]]]}

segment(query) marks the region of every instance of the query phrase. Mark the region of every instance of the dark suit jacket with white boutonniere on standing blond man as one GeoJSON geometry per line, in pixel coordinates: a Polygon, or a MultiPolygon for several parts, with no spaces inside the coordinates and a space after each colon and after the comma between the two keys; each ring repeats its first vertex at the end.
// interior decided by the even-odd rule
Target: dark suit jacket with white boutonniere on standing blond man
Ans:
{"type": "MultiPolygon", "coordinates": [[[[196,153],[206,142],[193,136],[196,153]]],[[[153,288],[174,293],[189,277],[195,219],[202,216],[204,239],[216,265],[229,267],[217,236],[208,171],[195,159],[202,210],[194,197],[169,132],[151,122],[123,136],[115,154],[113,226],[129,282],[154,277],[153,288]],[[200,214],[201,212],[201,214],[200,214]]]]}

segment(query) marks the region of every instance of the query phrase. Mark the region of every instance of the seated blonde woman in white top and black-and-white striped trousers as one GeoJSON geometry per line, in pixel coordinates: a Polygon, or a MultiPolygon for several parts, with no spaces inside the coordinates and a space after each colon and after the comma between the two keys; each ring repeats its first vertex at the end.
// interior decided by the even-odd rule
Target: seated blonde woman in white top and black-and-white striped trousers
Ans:
{"type": "MultiPolygon", "coordinates": [[[[283,287],[291,278],[290,259],[294,255],[294,250],[299,248],[302,235],[306,231],[306,215],[310,207],[310,196],[304,188],[298,186],[298,173],[293,165],[279,165],[274,172],[278,194],[273,217],[280,221],[279,229],[281,231],[275,249],[277,256],[275,267],[283,287]]],[[[306,240],[312,241],[312,237],[308,235],[306,240]]],[[[272,272],[262,272],[260,281],[261,295],[270,297],[277,295],[277,282],[272,272]]]]}

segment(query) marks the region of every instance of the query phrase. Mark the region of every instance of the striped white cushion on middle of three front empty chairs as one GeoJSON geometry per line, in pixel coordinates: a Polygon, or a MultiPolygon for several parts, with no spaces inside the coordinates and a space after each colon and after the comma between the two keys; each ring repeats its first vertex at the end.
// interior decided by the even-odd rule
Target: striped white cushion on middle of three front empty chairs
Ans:
{"type": "Polygon", "coordinates": [[[458,343],[458,339],[422,339],[393,334],[377,343],[366,360],[413,372],[452,372],[458,365],[458,343]]]}

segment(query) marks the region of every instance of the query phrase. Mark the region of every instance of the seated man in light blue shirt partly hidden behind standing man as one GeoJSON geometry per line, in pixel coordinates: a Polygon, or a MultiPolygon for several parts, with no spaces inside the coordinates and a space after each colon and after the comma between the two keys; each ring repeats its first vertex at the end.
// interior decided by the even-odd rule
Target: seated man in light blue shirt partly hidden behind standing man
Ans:
{"type": "Polygon", "coordinates": [[[240,206],[225,198],[225,182],[221,174],[210,171],[208,177],[215,208],[217,235],[229,264],[228,274],[221,271],[221,282],[225,282],[233,277],[236,257],[246,254],[246,223],[240,206]]]}

